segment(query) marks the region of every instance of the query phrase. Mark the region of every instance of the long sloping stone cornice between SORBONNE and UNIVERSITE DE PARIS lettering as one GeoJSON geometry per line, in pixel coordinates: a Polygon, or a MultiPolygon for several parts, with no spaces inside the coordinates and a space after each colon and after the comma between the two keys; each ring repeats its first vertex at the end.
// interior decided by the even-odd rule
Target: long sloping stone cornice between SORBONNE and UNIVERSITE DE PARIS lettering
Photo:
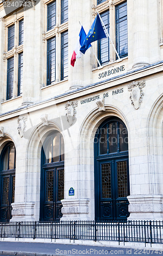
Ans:
{"type": "MultiPolygon", "coordinates": [[[[117,77],[112,77],[110,79],[97,82],[94,84],[90,84],[89,86],[83,87],[81,89],[72,91],[72,92],[66,92],[58,96],[54,96],[49,99],[42,100],[38,103],[33,103],[28,106],[22,106],[19,109],[9,111],[7,113],[3,113],[0,115],[0,121],[7,120],[9,118],[17,117],[18,115],[23,115],[24,113],[38,111],[41,109],[48,108],[50,106],[55,104],[63,104],[66,101],[76,100],[80,99],[81,97],[86,97],[87,95],[99,93],[100,91],[106,90],[106,84],[107,89],[111,89],[117,86],[128,86],[130,82],[140,80],[140,79],[149,79],[150,76],[158,76],[158,73],[162,73],[162,65],[163,61],[154,63],[153,65],[150,65],[148,67],[144,67],[142,69],[138,70],[132,70],[129,71],[126,74],[122,74],[117,77]]],[[[4,102],[5,103],[5,102],[4,102]]],[[[3,103],[3,104],[4,104],[3,103]]]]}

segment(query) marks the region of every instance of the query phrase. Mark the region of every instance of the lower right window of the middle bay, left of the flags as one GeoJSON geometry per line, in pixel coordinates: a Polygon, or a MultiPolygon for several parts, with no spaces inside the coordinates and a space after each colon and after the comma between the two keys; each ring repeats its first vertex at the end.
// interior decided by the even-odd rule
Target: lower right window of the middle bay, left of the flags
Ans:
{"type": "Polygon", "coordinates": [[[68,31],[61,34],[61,80],[68,76],[68,31]]]}

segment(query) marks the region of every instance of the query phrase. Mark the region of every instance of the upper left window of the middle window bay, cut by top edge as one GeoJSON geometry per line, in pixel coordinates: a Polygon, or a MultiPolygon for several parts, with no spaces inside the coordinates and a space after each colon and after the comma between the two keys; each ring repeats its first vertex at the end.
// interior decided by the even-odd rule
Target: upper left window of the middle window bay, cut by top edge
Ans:
{"type": "Polygon", "coordinates": [[[48,9],[47,30],[53,29],[56,25],[56,1],[50,3],[48,9]]]}

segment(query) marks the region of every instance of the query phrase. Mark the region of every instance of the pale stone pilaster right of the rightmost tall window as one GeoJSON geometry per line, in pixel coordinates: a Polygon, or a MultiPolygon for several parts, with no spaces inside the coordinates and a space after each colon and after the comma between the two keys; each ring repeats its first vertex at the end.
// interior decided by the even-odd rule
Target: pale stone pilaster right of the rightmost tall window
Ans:
{"type": "Polygon", "coordinates": [[[149,65],[147,0],[134,1],[133,10],[133,68],[145,67],[149,65]]]}

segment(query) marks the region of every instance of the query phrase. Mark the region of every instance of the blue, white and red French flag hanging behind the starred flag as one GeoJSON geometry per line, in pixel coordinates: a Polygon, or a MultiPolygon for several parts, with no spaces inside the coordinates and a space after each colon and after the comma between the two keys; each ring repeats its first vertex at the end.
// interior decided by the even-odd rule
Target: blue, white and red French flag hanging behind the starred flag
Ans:
{"type": "MultiPolygon", "coordinates": [[[[72,55],[72,58],[71,58],[71,65],[74,67],[75,65],[75,61],[77,58],[81,58],[81,56],[83,55],[82,52],[80,52],[80,48],[84,42],[84,39],[86,37],[86,33],[83,29],[83,26],[81,27],[81,30],[80,30],[80,33],[79,33],[79,36],[78,36],[78,42],[77,42],[77,45],[75,47],[75,50],[73,52],[73,55],[72,55]]],[[[91,45],[89,45],[89,47],[91,47],[91,45]]],[[[88,48],[89,48],[88,47],[88,48]]]]}

